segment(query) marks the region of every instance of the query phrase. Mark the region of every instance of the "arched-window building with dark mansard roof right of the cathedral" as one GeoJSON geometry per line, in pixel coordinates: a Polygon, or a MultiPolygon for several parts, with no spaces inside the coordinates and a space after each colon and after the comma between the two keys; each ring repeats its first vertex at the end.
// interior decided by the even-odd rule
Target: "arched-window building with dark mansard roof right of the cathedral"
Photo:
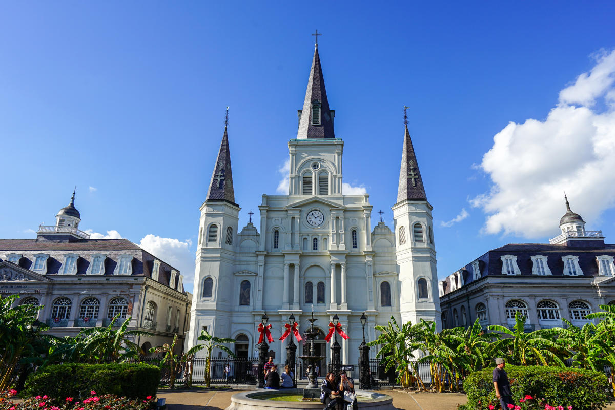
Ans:
{"type": "Polygon", "coordinates": [[[511,243],[479,256],[438,285],[444,328],[484,325],[511,327],[515,313],[526,328],[576,326],[600,305],[615,305],[615,245],[601,231],[586,231],[570,209],[550,243],[511,243]]]}

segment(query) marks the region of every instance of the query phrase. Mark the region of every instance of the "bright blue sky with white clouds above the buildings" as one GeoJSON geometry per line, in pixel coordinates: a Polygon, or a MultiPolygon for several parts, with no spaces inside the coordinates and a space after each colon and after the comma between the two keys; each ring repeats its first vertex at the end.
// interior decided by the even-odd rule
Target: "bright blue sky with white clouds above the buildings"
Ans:
{"type": "Polygon", "coordinates": [[[191,286],[224,109],[244,226],[277,193],[318,29],[373,224],[392,226],[410,107],[440,277],[557,235],[564,189],[615,240],[615,3],[245,3],[2,2],[0,237],[33,238],[77,186],[83,229],[191,286]]]}

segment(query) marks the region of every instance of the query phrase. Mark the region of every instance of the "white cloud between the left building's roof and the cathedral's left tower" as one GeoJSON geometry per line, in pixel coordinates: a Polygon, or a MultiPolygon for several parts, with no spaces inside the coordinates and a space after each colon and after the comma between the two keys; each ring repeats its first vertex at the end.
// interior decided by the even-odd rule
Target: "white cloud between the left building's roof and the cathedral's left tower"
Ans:
{"type": "Polygon", "coordinates": [[[175,269],[180,270],[184,275],[184,286],[186,290],[192,291],[194,281],[194,252],[191,250],[192,241],[187,239],[161,238],[156,235],[148,234],[141,239],[138,244],[141,248],[168,263],[175,269]]]}

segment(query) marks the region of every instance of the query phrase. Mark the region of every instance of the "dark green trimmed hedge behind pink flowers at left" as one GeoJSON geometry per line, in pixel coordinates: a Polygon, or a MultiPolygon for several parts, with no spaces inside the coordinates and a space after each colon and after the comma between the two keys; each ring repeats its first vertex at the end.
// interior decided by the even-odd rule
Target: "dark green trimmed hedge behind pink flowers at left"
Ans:
{"type": "Polygon", "coordinates": [[[94,390],[99,395],[143,399],[156,395],[160,368],[151,365],[52,365],[31,374],[22,396],[47,395],[61,398],[85,398],[94,390]]]}

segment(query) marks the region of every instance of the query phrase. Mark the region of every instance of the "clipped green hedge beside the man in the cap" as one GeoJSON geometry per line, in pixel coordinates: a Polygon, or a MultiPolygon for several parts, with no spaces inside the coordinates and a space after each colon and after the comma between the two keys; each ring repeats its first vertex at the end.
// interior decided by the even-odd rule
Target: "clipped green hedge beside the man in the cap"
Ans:
{"type": "MultiPolygon", "coordinates": [[[[585,369],[554,366],[506,366],[510,390],[515,404],[522,409],[545,408],[545,404],[572,406],[574,410],[599,410],[611,401],[608,380],[604,373],[585,369]],[[533,398],[525,400],[526,396],[533,398]]],[[[493,368],[474,372],[466,377],[466,410],[500,408],[493,388],[493,368]]]]}

